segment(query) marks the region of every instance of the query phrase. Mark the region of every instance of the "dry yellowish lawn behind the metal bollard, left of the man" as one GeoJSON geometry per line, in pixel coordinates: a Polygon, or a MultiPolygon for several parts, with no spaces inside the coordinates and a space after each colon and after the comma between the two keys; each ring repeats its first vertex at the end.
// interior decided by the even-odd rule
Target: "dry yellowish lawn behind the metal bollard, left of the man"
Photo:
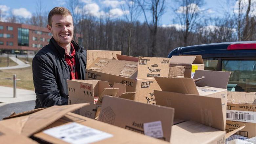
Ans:
{"type": "MultiPolygon", "coordinates": [[[[26,61],[26,58],[19,58],[20,60],[26,61]]],[[[0,71],[0,85],[12,87],[13,80],[2,79],[13,77],[13,74],[16,74],[17,79],[21,79],[17,81],[17,88],[34,90],[33,78],[32,78],[32,58],[29,58],[29,64],[31,65],[28,68],[23,69],[14,69],[14,70],[1,70],[0,71]]],[[[15,63],[16,64],[16,63],[15,63]]]]}

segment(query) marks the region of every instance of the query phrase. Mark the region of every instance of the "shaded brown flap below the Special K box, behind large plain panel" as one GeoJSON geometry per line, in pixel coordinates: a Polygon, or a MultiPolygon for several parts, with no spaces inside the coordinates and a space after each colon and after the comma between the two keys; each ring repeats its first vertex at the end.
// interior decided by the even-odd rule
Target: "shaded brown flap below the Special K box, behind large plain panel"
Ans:
{"type": "Polygon", "coordinates": [[[199,95],[192,78],[155,77],[155,79],[162,91],[199,95]]]}

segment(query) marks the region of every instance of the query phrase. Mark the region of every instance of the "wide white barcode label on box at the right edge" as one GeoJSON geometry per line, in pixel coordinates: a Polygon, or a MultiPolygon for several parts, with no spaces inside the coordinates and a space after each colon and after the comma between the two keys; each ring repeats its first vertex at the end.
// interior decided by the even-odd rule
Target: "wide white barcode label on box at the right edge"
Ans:
{"type": "Polygon", "coordinates": [[[256,123],[256,112],[227,110],[226,120],[256,123]]]}

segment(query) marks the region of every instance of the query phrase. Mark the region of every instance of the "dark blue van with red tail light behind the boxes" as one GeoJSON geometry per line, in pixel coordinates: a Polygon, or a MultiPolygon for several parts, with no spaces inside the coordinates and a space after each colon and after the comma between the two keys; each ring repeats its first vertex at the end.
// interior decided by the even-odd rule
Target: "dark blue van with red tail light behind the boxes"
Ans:
{"type": "Polygon", "coordinates": [[[168,57],[180,54],[202,55],[205,70],[231,72],[228,90],[256,92],[256,41],[179,47],[168,57]]]}

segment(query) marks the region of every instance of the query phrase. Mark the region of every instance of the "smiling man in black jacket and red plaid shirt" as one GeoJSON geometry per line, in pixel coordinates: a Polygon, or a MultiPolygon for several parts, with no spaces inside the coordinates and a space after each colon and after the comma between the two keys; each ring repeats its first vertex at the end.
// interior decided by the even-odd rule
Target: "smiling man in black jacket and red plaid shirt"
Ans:
{"type": "Polygon", "coordinates": [[[86,50],[72,40],[74,26],[70,11],[53,8],[48,15],[47,28],[53,37],[32,62],[35,109],[67,105],[67,79],[85,79],[86,50]]]}

